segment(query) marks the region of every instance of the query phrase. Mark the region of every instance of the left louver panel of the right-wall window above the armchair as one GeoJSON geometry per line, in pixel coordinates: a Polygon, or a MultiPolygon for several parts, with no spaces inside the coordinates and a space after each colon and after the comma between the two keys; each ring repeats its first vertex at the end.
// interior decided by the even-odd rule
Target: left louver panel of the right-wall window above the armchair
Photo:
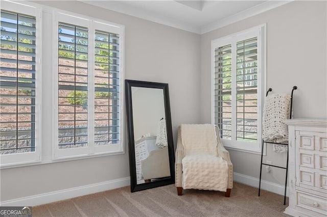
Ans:
{"type": "Polygon", "coordinates": [[[215,49],[215,124],[231,138],[231,45],[215,49]]]}

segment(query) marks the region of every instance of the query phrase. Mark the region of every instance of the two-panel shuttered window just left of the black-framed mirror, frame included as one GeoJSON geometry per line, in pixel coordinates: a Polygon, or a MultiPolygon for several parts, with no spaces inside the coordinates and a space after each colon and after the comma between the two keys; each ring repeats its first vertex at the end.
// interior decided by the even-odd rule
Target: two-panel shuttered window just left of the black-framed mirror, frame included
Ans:
{"type": "Polygon", "coordinates": [[[57,13],[57,141],[54,158],[120,153],[120,26],[57,13]]]}

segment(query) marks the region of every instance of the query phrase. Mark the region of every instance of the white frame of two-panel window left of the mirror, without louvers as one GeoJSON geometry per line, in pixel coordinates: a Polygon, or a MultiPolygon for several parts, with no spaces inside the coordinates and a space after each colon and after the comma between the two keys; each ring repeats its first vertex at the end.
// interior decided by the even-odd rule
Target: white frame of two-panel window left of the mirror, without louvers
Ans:
{"type": "Polygon", "coordinates": [[[104,154],[121,154],[125,153],[124,150],[124,44],[125,44],[125,26],[121,24],[116,24],[104,20],[95,19],[92,17],[83,16],[80,14],[75,14],[71,12],[65,12],[61,10],[56,10],[53,13],[53,51],[54,51],[54,61],[53,61],[53,144],[52,144],[52,158],[64,159],[64,158],[76,158],[90,155],[104,155],[104,154]],[[87,111],[87,146],[77,147],[77,148],[58,148],[58,25],[59,22],[66,22],[69,24],[84,26],[88,29],[88,111],[87,111]],[[105,31],[109,33],[115,33],[120,35],[120,72],[119,72],[119,86],[120,86],[120,106],[119,106],[119,118],[120,118],[120,131],[118,144],[111,145],[101,145],[96,146],[94,143],[94,132],[95,132],[95,34],[96,30],[105,31]]]}

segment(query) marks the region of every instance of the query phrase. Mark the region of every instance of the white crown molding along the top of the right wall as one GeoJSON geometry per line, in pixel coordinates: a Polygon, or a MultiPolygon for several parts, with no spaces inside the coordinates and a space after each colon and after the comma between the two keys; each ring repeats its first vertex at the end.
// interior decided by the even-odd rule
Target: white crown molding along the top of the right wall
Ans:
{"type": "Polygon", "coordinates": [[[279,6],[283,6],[283,5],[288,4],[290,2],[293,2],[293,1],[294,0],[292,0],[292,1],[267,1],[267,2],[262,3],[260,5],[249,8],[249,9],[247,9],[245,11],[241,11],[241,12],[235,14],[235,15],[226,17],[226,18],[221,19],[221,20],[218,20],[217,22],[214,22],[214,23],[211,23],[211,24],[208,24],[208,25],[204,25],[204,26],[201,27],[200,34],[202,35],[202,34],[211,32],[213,30],[220,29],[220,28],[222,28],[222,27],[224,27],[226,25],[238,22],[240,20],[249,18],[251,16],[261,14],[263,12],[269,11],[269,10],[277,8],[279,6]]]}

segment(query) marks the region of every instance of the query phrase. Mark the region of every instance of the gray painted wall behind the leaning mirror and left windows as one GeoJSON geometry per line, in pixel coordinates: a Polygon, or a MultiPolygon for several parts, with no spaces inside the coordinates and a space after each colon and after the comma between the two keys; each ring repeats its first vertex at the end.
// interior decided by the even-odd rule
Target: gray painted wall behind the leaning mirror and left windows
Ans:
{"type": "MultiPolygon", "coordinates": [[[[175,141],[178,125],[200,122],[200,35],[76,1],[35,3],[124,24],[125,79],[169,83],[175,141]]],[[[42,83],[51,88],[51,62],[43,65],[42,83]]],[[[43,93],[43,144],[51,143],[51,97],[43,93]]],[[[1,201],[129,177],[126,129],[125,154],[1,170],[1,201]]]]}

